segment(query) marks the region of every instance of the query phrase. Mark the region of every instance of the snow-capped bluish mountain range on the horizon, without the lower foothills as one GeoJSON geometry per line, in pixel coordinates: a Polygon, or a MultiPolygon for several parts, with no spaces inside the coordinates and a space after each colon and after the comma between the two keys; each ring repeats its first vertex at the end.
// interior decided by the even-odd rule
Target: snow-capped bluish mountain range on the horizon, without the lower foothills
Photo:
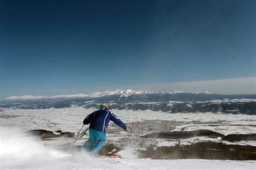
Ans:
{"type": "Polygon", "coordinates": [[[11,101],[37,101],[37,100],[95,100],[98,102],[167,102],[167,101],[211,101],[228,99],[256,99],[256,94],[251,95],[220,95],[208,93],[187,93],[183,91],[173,91],[172,93],[135,90],[115,90],[105,92],[95,92],[91,94],[57,95],[57,96],[10,96],[2,102],[11,101]]]}

